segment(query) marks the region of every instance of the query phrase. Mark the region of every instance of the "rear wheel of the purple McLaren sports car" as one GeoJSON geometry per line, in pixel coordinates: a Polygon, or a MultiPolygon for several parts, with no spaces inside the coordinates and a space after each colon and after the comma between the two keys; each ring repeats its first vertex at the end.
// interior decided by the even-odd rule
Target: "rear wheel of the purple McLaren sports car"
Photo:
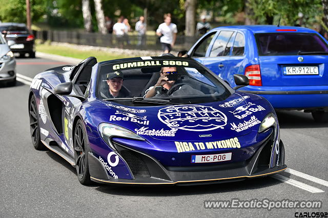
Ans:
{"type": "Polygon", "coordinates": [[[38,111],[34,94],[29,103],[29,116],[30,116],[30,132],[32,144],[36,150],[46,150],[45,145],[40,139],[40,127],[38,119],[38,111]]]}

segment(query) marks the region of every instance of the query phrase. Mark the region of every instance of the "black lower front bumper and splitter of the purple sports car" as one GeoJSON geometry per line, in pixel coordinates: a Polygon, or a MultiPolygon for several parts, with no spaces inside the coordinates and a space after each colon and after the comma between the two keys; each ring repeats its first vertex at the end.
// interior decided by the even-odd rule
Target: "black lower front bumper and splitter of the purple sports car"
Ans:
{"type": "Polygon", "coordinates": [[[192,185],[240,181],[263,177],[282,172],[284,164],[284,146],[279,144],[279,160],[270,168],[272,140],[268,138],[255,154],[247,161],[207,166],[165,167],[151,156],[132,150],[120,144],[115,146],[125,159],[133,179],[114,179],[110,177],[104,165],[92,153],[88,155],[90,178],[98,183],[130,185],[192,185]],[[126,155],[128,154],[128,155],[126,155]]]}

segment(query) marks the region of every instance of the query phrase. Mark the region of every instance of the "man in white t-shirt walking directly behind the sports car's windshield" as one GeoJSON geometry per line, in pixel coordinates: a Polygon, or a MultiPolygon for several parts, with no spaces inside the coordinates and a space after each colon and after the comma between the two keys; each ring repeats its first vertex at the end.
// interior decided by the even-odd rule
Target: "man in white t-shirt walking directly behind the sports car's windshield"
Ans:
{"type": "Polygon", "coordinates": [[[161,23],[156,30],[156,35],[160,36],[160,43],[164,53],[171,52],[177,32],[176,25],[171,22],[171,14],[165,14],[164,22],[161,23]]]}

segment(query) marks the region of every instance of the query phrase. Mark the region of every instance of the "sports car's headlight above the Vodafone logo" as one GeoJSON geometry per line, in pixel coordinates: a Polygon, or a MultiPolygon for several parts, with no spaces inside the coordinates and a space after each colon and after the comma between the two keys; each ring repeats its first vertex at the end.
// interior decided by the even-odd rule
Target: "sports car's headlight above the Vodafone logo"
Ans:
{"type": "MultiPolygon", "coordinates": [[[[109,144],[109,146],[112,146],[111,143],[111,138],[114,136],[118,137],[124,137],[124,138],[131,138],[131,139],[136,139],[136,140],[145,140],[141,136],[135,134],[134,132],[127,130],[123,127],[116,126],[114,124],[100,124],[99,127],[99,132],[101,137],[106,141],[106,143],[109,144]]],[[[115,148],[114,148],[115,149],[115,148]]]]}

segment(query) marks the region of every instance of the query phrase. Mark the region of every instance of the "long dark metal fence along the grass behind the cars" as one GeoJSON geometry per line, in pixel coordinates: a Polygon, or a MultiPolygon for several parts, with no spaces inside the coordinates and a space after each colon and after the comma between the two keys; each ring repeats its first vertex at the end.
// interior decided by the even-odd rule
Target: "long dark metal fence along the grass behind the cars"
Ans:
{"type": "MultiPolygon", "coordinates": [[[[145,36],[144,43],[140,44],[138,35],[129,35],[124,38],[117,38],[112,34],[83,33],[77,31],[35,31],[37,39],[50,40],[55,42],[67,42],[80,45],[93,45],[103,47],[122,47],[123,49],[138,50],[161,50],[158,36],[145,36]],[[122,45],[119,42],[121,40],[122,45]]],[[[198,40],[198,36],[177,36],[174,51],[189,50],[198,40]]]]}

